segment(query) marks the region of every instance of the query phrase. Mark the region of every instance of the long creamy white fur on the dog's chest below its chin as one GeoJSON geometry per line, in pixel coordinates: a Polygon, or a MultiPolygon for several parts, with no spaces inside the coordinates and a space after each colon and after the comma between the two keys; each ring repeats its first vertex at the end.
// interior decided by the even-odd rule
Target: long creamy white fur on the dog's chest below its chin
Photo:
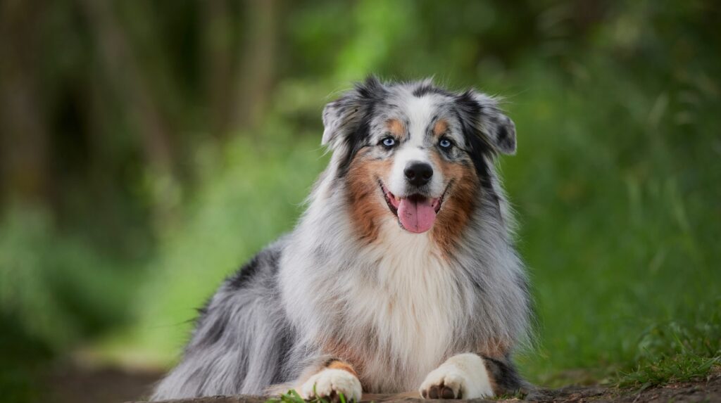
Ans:
{"type": "Polygon", "coordinates": [[[368,386],[412,390],[446,358],[463,311],[462,290],[429,235],[391,225],[359,259],[377,264],[346,296],[345,319],[377,338],[364,371],[368,386]]]}

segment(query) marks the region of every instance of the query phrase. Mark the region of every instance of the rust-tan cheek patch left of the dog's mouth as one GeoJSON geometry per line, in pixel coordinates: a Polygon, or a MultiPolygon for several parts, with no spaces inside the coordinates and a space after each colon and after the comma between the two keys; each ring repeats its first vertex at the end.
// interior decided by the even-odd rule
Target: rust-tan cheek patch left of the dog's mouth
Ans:
{"type": "Polygon", "coordinates": [[[379,236],[381,219],[389,213],[378,179],[391,169],[389,160],[371,160],[367,151],[355,155],[348,169],[348,209],[358,237],[372,243],[379,236]]]}

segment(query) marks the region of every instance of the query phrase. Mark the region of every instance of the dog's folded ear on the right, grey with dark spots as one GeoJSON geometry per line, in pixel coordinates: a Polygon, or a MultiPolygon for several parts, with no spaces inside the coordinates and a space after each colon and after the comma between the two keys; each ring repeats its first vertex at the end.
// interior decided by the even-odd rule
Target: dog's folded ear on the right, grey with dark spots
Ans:
{"type": "Polygon", "coordinates": [[[516,153],[516,124],[498,107],[492,96],[470,90],[456,99],[464,119],[488,145],[503,154],[516,153]]]}

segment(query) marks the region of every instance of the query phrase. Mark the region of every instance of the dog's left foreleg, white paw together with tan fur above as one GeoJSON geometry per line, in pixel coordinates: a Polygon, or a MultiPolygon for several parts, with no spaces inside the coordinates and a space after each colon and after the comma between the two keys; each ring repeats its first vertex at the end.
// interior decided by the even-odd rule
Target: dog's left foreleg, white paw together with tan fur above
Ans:
{"type": "Polygon", "coordinates": [[[348,402],[360,402],[363,394],[358,373],[349,363],[337,359],[326,361],[322,368],[316,369],[296,390],[306,400],[322,397],[331,402],[340,402],[340,394],[343,394],[348,402]]]}

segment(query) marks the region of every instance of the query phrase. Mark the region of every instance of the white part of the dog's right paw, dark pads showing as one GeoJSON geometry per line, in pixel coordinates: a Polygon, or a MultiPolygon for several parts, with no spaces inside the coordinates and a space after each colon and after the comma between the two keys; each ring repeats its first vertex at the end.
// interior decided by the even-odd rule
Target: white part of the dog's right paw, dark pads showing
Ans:
{"type": "Polygon", "coordinates": [[[483,359],[459,354],[430,371],[420,385],[424,399],[477,399],[492,397],[493,389],[483,359]]]}

